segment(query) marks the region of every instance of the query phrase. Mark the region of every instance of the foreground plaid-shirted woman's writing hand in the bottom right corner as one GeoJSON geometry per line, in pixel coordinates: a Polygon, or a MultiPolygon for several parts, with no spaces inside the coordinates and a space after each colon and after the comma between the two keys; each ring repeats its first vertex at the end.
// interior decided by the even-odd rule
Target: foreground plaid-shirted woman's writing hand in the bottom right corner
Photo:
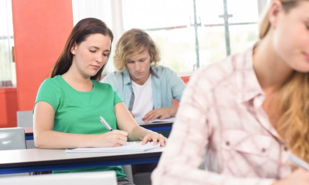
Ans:
{"type": "Polygon", "coordinates": [[[275,181],[273,185],[309,185],[309,171],[298,168],[288,177],[275,181]]]}

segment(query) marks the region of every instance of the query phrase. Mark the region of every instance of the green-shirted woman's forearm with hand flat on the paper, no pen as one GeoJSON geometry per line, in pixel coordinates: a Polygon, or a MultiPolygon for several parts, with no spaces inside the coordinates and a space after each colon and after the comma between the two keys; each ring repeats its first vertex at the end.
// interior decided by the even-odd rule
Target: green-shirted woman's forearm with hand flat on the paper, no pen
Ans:
{"type": "Polygon", "coordinates": [[[162,134],[158,134],[157,132],[153,132],[139,126],[123,102],[117,103],[114,106],[114,109],[117,119],[117,126],[120,130],[128,132],[128,138],[131,141],[141,140],[142,144],[145,144],[147,141],[153,141],[155,145],[158,141],[160,141],[161,146],[165,146],[167,138],[162,134]]]}

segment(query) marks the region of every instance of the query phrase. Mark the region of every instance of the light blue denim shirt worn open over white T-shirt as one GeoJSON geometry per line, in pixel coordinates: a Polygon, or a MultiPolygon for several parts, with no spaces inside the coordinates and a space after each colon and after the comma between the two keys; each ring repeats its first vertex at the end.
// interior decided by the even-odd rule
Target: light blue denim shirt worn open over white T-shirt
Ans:
{"type": "MultiPolygon", "coordinates": [[[[150,73],[154,109],[173,106],[173,99],[180,101],[186,86],[174,71],[168,67],[158,65],[156,67],[151,66],[150,73]]],[[[109,73],[101,82],[110,84],[128,109],[132,110],[134,98],[136,97],[134,97],[128,68],[122,73],[117,71],[109,73]]]]}

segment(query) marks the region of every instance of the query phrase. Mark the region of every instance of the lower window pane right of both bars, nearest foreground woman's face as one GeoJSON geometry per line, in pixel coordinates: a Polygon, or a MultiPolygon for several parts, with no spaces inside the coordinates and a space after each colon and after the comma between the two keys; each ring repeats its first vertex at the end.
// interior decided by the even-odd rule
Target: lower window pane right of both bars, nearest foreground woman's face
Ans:
{"type": "Polygon", "coordinates": [[[230,26],[231,53],[243,52],[258,40],[258,25],[230,26]]]}

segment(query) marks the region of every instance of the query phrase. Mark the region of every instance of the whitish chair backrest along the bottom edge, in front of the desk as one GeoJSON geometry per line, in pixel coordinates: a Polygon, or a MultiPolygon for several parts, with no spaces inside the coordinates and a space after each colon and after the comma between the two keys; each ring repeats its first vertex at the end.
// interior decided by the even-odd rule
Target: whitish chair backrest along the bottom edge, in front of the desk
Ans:
{"type": "Polygon", "coordinates": [[[114,171],[0,178],[0,185],[117,185],[114,171]]]}

